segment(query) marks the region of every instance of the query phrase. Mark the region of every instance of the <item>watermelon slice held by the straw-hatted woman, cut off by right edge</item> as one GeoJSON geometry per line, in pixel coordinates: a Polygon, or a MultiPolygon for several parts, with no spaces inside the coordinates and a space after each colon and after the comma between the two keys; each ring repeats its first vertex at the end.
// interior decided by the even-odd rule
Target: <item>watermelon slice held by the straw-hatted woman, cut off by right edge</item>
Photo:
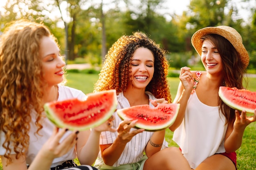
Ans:
{"type": "Polygon", "coordinates": [[[223,102],[233,109],[245,110],[247,113],[254,113],[256,109],[256,92],[221,86],[219,96],[223,102]]]}

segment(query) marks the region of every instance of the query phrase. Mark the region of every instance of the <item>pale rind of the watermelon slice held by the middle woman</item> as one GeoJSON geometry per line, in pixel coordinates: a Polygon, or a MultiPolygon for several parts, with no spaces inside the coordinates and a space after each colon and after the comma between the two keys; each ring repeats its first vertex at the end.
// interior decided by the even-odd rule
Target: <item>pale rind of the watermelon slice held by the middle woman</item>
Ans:
{"type": "MultiPolygon", "coordinates": [[[[178,112],[179,112],[179,109],[180,109],[180,104],[171,103],[171,104],[168,104],[168,105],[175,105],[175,109],[176,109],[176,112],[173,113],[174,115],[173,115],[171,121],[168,122],[168,124],[166,123],[166,124],[156,126],[156,124],[154,124],[154,125],[144,125],[144,124],[141,124],[141,123],[136,123],[135,128],[136,129],[145,129],[145,131],[153,131],[154,132],[154,131],[161,131],[163,129],[166,129],[166,128],[170,127],[175,122],[175,120],[177,118],[177,115],[178,115],[178,112]]],[[[122,120],[129,119],[129,117],[127,117],[126,114],[123,113],[123,110],[125,110],[125,109],[128,109],[128,108],[117,109],[117,114],[122,120]]]]}

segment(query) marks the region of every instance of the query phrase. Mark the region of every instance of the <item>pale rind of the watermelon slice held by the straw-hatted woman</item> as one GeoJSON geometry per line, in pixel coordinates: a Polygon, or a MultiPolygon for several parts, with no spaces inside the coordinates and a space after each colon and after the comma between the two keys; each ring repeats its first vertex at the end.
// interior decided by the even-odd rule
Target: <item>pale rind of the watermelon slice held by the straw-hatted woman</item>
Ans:
{"type": "MultiPolygon", "coordinates": [[[[231,107],[232,109],[236,109],[236,110],[239,110],[239,111],[245,110],[247,113],[254,113],[254,110],[255,110],[256,108],[250,109],[250,108],[247,108],[247,107],[242,106],[242,105],[236,105],[236,103],[232,102],[229,98],[227,98],[227,97],[226,97],[227,95],[225,95],[225,94],[224,94],[224,91],[223,91],[223,89],[226,89],[226,88],[229,88],[229,87],[221,86],[220,89],[219,89],[219,92],[218,92],[218,94],[219,94],[221,100],[222,100],[226,105],[228,105],[228,106],[231,107]]],[[[236,90],[239,90],[239,89],[236,89],[236,90]]],[[[244,90],[245,90],[245,89],[244,89],[244,90]]],[[[249,90],[247,90],[247,91],[249,91],[249,90]]]]}

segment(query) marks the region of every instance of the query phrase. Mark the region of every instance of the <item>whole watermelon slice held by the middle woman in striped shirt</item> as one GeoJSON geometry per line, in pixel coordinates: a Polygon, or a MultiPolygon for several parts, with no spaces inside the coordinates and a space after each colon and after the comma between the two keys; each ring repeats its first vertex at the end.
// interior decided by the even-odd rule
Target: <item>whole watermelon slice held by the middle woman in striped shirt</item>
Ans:
{"type": "Polygon", "coordinates": [[[146,131],[157,131],[171,126],[178,114],[180,104],[158,104],[157,107],[137,105],[118,109],[117,114],[123,120],[138,120],[135,127],[146,131]]]}

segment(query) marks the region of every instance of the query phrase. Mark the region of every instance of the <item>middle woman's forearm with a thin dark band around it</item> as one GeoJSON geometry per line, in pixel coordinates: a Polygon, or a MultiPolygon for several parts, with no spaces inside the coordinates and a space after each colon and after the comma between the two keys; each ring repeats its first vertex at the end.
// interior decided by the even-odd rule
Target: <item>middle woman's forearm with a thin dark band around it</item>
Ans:
{"type": "Polygon", "coordinates": [[[155,153],[157,153],[162,148],[162,144],[164,142],[165,129],[162,131],[157,131],[153,133],[148,144],[146,146],[145,152],[147,157],[151,157],[155,153]]]}

